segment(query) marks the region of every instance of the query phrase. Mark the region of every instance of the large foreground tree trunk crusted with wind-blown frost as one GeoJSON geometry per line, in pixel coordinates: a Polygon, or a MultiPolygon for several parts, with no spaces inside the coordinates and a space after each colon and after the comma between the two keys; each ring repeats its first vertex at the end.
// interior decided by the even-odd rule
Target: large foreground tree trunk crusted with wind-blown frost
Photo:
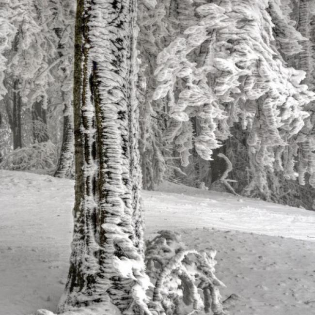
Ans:
{"type": "Polygon", "coordinates": [[[60,312],[98,302],[135,314],[145,299],[135,15],[135,0],[77,2],[74,236],[60,312]]]}

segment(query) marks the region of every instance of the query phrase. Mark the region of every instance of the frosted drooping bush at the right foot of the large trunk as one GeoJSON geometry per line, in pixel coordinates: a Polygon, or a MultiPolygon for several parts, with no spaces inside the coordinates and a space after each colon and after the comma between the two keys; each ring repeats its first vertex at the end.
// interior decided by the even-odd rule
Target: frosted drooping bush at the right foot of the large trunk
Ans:
{"type": "Polygon", "coordinates": [[[188,306],[192,313],[205,310],[216,315],[226,314],[219,292],[224,284],[214,274],[215,255],[214,250],[187,250],[177,233],[159,231],[146,243],[147,272],[155,283],[149,307],[160,315],[180,314],[188,306]]]}

